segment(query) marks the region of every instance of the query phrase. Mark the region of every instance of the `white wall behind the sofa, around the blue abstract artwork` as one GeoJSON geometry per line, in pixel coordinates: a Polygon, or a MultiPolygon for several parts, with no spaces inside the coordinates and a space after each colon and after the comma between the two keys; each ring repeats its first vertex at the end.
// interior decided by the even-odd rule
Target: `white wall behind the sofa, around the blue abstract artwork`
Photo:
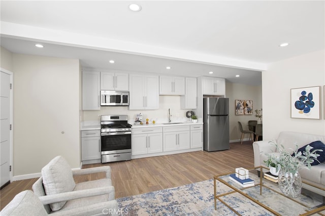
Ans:
{"type": "Polygon", "coordinates": [[[325,135],[324,50],[274,62],[262,72],[263,139],[277,138],[280,131],[325,135]],[[320,86],[321,119],[290,118],[290,89],[320,86]]]}

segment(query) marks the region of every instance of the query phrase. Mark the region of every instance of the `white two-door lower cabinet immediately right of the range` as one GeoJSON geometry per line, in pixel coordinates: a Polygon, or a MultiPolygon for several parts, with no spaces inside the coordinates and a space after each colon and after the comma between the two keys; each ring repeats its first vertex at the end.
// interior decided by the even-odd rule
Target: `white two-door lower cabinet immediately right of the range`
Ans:
{"type": "Polygon", "coordinates": [[[163,128],[133,128],[132,155],[163,152],[163,128]]]}

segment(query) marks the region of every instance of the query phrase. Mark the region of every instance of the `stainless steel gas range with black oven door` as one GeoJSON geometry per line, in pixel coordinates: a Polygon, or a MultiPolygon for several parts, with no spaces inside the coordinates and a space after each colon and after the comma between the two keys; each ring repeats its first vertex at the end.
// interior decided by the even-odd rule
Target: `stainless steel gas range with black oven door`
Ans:
{"type": "Polygon", "coordinates": [[[131,127],[127,115],[101,116],[102,163],[131,160],[131,127]]]}

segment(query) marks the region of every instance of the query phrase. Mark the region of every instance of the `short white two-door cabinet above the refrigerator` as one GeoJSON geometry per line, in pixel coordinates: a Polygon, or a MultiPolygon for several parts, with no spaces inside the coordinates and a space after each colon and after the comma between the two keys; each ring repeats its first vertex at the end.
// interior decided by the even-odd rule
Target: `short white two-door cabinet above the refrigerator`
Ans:
{"type": "Polygon", "coordinates": [[[225,95],[225,80],[223,78],[203,77],[203,94],[225,95]]]}

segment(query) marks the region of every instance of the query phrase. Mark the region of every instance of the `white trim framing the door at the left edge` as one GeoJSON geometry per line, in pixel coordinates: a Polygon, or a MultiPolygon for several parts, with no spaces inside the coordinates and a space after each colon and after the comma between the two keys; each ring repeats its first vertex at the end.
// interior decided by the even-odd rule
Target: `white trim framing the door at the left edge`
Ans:
{"type": "Polygon", "coordinates": [[[11,91],[10,91],[10,124],[11,124],[11,130],[9,131],[10,132],[10,142],[9,142],[9,145],[10,145],[10,164],[9,166],[11,166],[11,171],[9,173],[9,179],[10,179],[10,183],[13,182],[13,134],[14,134],[14,124],[13,124],[13,119],[14,119],[14,74],[7,70],[7,69],[4,69],[2,67],[0,67],[0,70],[3,72],[3,73],[6,73],[8,75],[10,75],[10,83],[11,83],[11,91]]]}

